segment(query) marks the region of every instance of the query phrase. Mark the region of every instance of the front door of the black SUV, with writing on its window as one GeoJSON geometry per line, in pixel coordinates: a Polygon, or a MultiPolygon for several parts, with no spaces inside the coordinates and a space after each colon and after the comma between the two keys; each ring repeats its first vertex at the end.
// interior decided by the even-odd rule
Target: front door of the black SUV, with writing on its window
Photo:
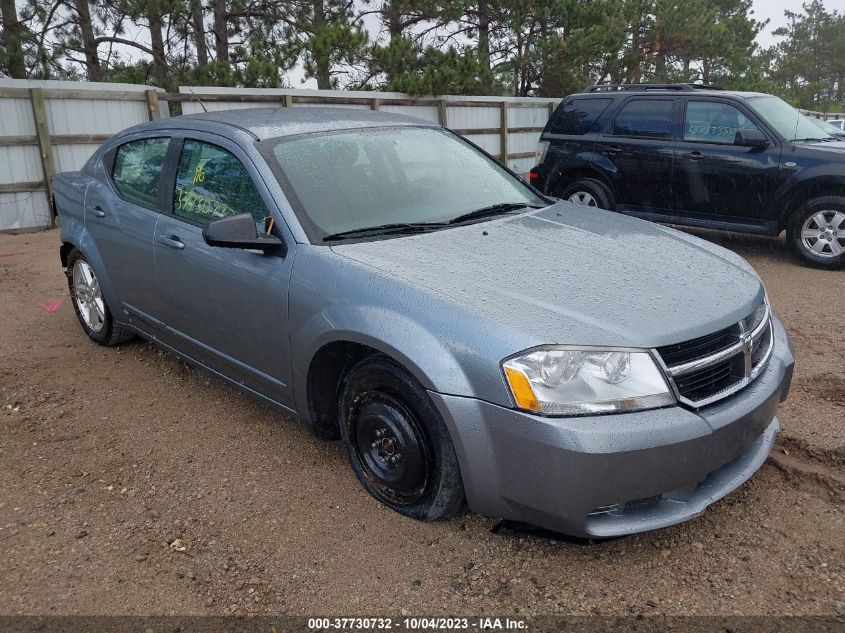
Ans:
{"type": "Polygon", "coordinates": [[[689,219],[763,224],[780,182],[780,145],[734,145],[737,130],[769,135],[742,104],[717,98],[684,99],[683,132],[676,146],[673,186],[678,211],[689,219]]]}

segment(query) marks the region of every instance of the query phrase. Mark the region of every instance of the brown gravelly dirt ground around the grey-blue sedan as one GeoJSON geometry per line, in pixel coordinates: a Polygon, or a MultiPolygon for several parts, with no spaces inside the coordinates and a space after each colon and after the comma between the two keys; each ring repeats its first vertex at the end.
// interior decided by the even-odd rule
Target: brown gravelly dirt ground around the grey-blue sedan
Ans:
{"type": "Polygon", "coordinates": [[[91,343],[57,231],[0,236],[0,613],[845,616],[845,272],[697,234],[792,335],[783,433],[701,518],[602,543],[385,510],[338,444],[145,342],[91,343]]]}

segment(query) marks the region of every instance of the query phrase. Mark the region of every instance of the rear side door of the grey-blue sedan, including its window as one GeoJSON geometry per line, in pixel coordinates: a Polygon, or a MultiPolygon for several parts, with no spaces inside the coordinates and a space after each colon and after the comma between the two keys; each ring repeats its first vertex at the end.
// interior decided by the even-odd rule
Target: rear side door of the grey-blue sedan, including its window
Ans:
{"type": "MultiPolygon", "coordinates": [[[[105,180],[85,197],[85,227],[103,258],[121,311],[156,311],[153,235],[163,205],[165,135],[135,137],[109,152],[105,180]]],[[[116,307],[116,306],[115,306],[116,307]]]]}

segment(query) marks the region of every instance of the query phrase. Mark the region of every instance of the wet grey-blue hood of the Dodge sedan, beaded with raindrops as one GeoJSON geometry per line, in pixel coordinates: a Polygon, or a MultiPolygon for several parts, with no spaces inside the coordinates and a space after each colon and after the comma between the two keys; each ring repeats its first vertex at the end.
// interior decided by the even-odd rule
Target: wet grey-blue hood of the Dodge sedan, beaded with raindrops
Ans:
{"type": "Polygon", "coordinates": [[[730,251],[568,202],[332,249],[534,344],[677,343],[736,323],[764,294],[753,269],[730,251]]]}

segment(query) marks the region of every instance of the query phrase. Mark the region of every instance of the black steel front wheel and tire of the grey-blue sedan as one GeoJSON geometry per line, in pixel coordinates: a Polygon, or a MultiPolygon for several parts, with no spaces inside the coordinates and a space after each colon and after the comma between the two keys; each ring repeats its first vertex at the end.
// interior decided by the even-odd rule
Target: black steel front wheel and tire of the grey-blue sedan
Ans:
{"type": "Polygon", "coordinates": [[[464,488],[446,424],[402,366],[382,355],[355,365],[339,417],[352,471],[378,501],[422,521],[460,511],[464,488]]]}

